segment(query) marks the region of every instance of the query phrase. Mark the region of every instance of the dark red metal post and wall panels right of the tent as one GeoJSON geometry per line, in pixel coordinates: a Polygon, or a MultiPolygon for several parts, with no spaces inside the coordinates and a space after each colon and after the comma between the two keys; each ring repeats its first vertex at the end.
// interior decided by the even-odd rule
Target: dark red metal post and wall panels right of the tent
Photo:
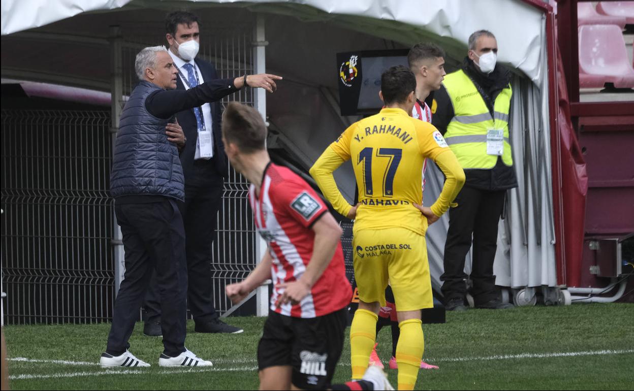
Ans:
{"type": "Polygon", "coordinates": [[[585,247],[634,232],[634,101],[579,100],[578,0],[557,1],[556,20],[527,3],[547,12],[558,282],[604,286],[585,247]]]}

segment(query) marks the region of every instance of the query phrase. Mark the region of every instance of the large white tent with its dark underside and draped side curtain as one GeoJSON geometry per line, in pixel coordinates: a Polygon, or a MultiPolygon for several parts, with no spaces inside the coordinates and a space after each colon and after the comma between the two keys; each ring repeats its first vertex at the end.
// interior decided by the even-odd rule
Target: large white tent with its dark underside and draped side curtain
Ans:
{"type": "MultiPolygon", "coordinates": [[[[157,10],[164,12],[182,8],[184,4],[201,12],[213,8],[222,18],[235,23],[245,22],[240,19],[244,13],[266,15],[266,40],[269,41],[266,68],[268,72],[288,76],[285,78],[288,84],[268,98],[269,122],[285,144],[300,155],[304,165],[314,162],[351,120],[340,117],[333,110],[332,101],[336,99],[333,97],[337,96],[337,78],[332,71],[335,53],[389,48],[387,42],[407,48],[416,42],[434,41],[443,46],[448,54],[448,65],[455,68],[467,53],[467,39],[472,32],[480,29],[493,32],[500,49],[498,60],[515,73],[510,127],[520,183],[518,189],[509,191],[507,219],[500,222],[496,283],[516,289],[556,285],[547,48],[542,11],[521,0],[3,0],[3,48],[5,43],[15,44],[13,48],[16,49],[25,48],[11,41],[12,37],[41,39],[39,35],[24,35],[30,34],[23,32],[29,29],[55,31],[56,34],[88,34],[90,36],[84,41],[107,44],[105,27],[116,24],[108,23],[108,18],[115,18],[112,14],[134,16],[134,20],[140,20],[154,18],[159,15],[157,10]],[[298,102],[306,104],[298,105],[298,102]]],[[[161,34],[164,33],[158,30],[159,39],[161,34]]],[[[40,49],[46,50],[44,45],[40,49]]],[[[4,50],[3,77],[17,79],[20,75],[28,75],[18,72],[15,64],[25,68],[34,65],[29,61],[20,62],[20,58],[16,58],[20,53],[14,51],[9,56],[4,50]],[[11,61],[14,65],[10,69],[11,61]]],[[[73,50],[89,49],[78,46],[55,49],[74,54],[73,50]]],[[[51,56],[58,54],[55,51],[51,51],[51,56]]],[[[100,55],[104,54],[94,53],[96,57],[100,55]]],[[[80,56],[75,54],[75,57],[80,56]]],[[[94,77],[86,75],[84,79],[77,79],[78,82],[68,77],[63,80],[74,86],[108,89],[108,67],[91,67],[93,65],[85,68],[90,68],[89,75],[94,73],[94,77]]],[[[77,72],[81,70],[79,68],[77,72]]],[[[46,74],[40,72],[39,75],[39,80],[34,81],[46,81],[42,80],[46,79],[46,74]]],[[[427,205],[437,196],[443,181],[433,165],[430,170],[436,171],[435,175],[427,175],[427,205]]],[[[340,171],[337,179],[342,192],[351,200],[354,195],[351,168],[342,167],[340,171]]],[[[443,269],[447,220],[443,217],[430,228],[427,236],[436,288],[443,269]]]]}

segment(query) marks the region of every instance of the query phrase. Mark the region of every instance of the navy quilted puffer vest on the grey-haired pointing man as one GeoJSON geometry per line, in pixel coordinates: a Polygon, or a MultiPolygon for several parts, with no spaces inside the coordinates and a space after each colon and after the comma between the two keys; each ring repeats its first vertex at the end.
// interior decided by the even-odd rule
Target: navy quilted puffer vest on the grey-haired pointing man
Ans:
{"type": "Polygon", "coordinates": [[[160,87],[141,81],[121,113],[110,193],[113,197],[159,195],[184,200],[184,177],[176,145],[167,141],[168,119],[154,117],[145,99],[160,87]]]}

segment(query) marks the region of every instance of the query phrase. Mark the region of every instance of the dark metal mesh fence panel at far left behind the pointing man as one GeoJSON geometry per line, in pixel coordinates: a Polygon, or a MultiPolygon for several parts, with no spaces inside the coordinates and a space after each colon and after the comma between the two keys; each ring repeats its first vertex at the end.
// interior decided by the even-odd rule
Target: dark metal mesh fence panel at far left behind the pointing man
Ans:
{"type": "Polygon", "coordinates": [[[112,315],[110,113],[2,111],[7,323],[112,315]]]}

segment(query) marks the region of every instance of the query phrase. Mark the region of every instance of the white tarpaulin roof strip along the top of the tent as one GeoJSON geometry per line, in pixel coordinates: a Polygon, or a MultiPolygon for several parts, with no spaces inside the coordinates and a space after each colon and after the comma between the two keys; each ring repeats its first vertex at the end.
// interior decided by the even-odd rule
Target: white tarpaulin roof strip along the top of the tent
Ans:
{"type": "MultiPolygon", "coordinates": [[[[181,6],[184,2],[178,2],[181,6]]],[[[543,34],[543,13],[521,1],[514,0],[198,0],[200,3],[239,3],[254,6],[259,11],[287,13],[311,19],[345,18],[351,29],[363,29],[367,34],[385,35],[398,42],[420,41],[420,30],[427,35],[453,38],[467,42],[475,30],[488,29],[498,38],[501,62],[510,63],[536,81],[545,61],[540,62],[543,34]],[[308,7],[306,7],[308,6],[308,7]],[[386,23],[386,22],[391,23],[386,23]],[[394,24],[393,22],[398,22],[394,24]],[[401,23],[403,25],[401,25],[401,23]],[[405,26],[405,25],[409,25],[405,26]],[[519,34],[508,34],[514,31],[519,34]]],[[[83,12],[114,10],[123,6],[174,6],[159,0],[3,0],[2,35],[32,29],[69,18],[83,12]]],[[[449,49],[449,48],[448,48],[449,49]]]]}

